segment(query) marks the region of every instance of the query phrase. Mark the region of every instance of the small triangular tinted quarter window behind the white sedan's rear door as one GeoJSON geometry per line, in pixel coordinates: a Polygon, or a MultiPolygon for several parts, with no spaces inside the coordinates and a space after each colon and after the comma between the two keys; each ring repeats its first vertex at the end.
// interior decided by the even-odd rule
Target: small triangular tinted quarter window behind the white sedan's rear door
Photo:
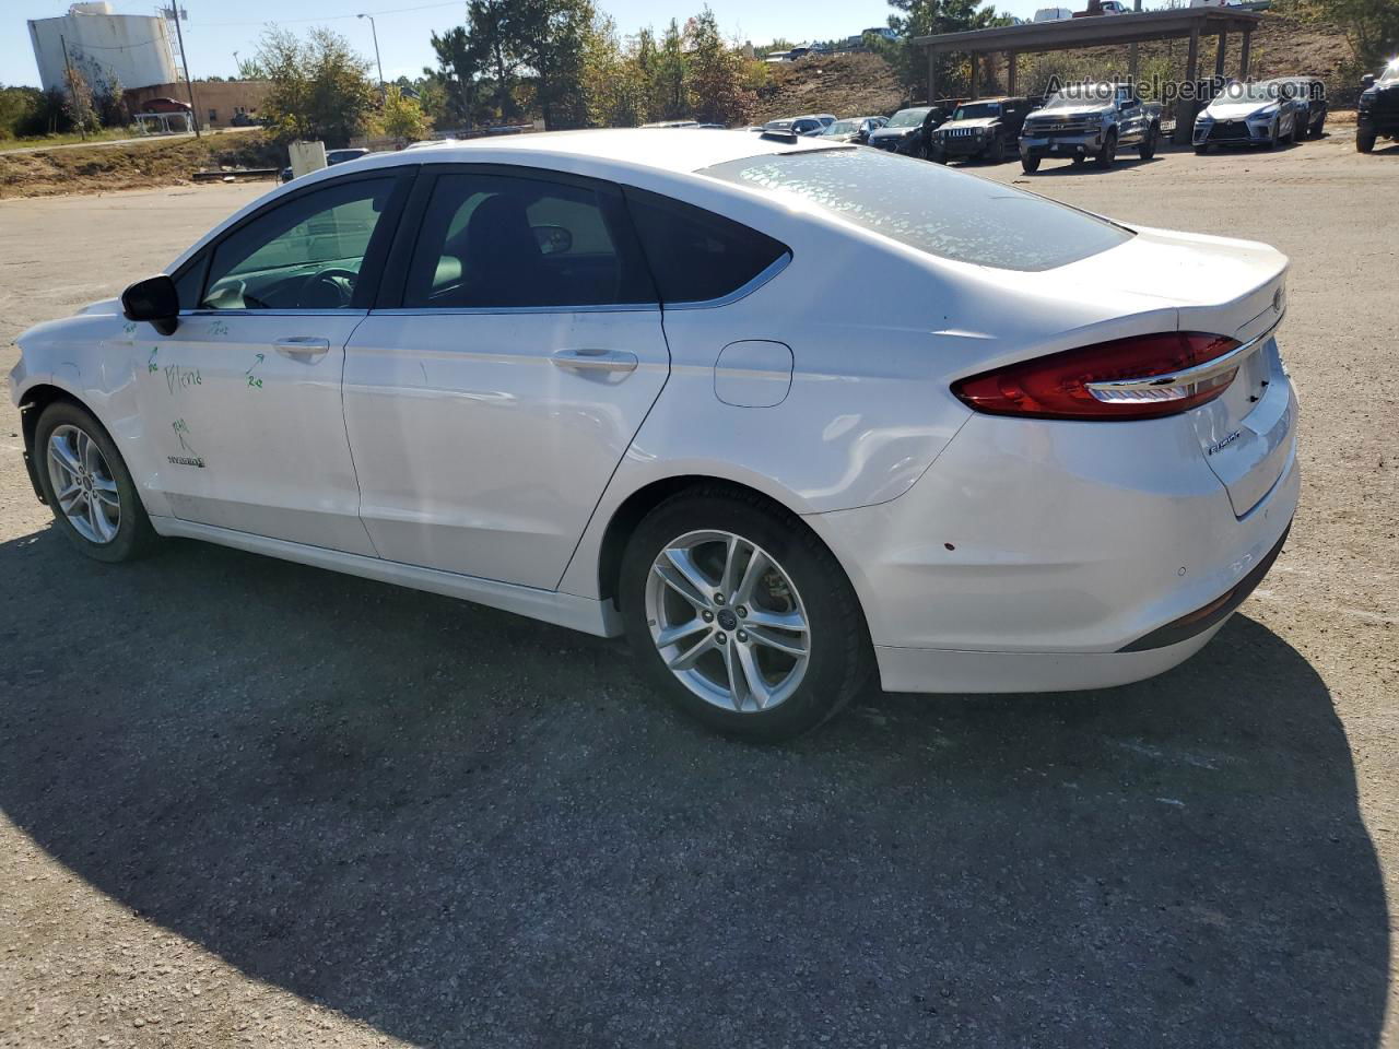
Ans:
{"type": "Polygon", "coordinates": [[[722,299],[790,253],[713,211],[641,189],[624,192],[662,302],[722,299]]]}

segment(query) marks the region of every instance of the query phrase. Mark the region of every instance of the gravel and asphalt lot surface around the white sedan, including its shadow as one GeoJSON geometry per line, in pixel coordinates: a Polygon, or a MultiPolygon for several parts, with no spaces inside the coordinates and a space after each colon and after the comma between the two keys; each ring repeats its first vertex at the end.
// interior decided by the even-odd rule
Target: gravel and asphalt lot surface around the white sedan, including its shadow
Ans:
{"type": "MultiPolygon", "coordinates": [[[[872,694],[785,748],[618,642],[193,543],[85,561],[6,397],[0,1045],[1399,1045],[1396,165],[978,168],[1291,256],[1302,508],[1164,677],[872,694]]],[[[0,369],[264,190],[0,203],[0,369]]]]}

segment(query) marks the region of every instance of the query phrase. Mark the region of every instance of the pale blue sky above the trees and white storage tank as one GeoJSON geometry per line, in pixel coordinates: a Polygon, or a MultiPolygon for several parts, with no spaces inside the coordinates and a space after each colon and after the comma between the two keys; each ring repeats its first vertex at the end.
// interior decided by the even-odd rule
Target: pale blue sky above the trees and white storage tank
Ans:
{"type": "MultiPolygon", "coordinates": [[[[1014,14],[1032,13],[1037,3],[1048,0],[1002,0],[999,10],[1014,14]],[[1024,8],[1024,10],[1023,10],[1024,8]]],[[[118,14],[154,14],[155,0],[112,0],[118,14]]],[[[644,25],[660,28],[670,18],[684,20],[697,13],[704,0],[599,0],[597,6],[617,20],[625,35],[644,25]]],[[[711,0],[726,35],[762,43],[774,36],[793,42],[849,36],[872,25],[884,25],[890,7],[886,0],[711,0]]],[[[428,38],[462,21],[466,4],[460,0],[187,0],[185,48],[196,77],[234,74],[234,52],[249,57],[257,49],[262,27],[276,21],[287,28],[304,29],[329,25],[344,34],[367,57],[374,57],[368,21],[355,18],[358,11],[375,15],[383,76],[417,76],[432,63],[428,38]],[[418,8],[418,10],[403,10],[418,8]],[[379,13],[383,14],[379,14],[379,13]]],[[[69,10],[69,0],[0,0],[0,83],[38,84],[39,73],[29,46],[28,18],[52,18],[69,10]]]]}

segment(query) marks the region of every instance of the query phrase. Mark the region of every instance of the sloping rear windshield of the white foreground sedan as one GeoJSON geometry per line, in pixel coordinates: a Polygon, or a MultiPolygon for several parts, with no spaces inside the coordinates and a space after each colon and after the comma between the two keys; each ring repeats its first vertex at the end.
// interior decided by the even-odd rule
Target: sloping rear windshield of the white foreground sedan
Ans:
{"type": "Polygon", "coordinates": [[[1051,270],[1133,235],[997,182],[876,150],[767,154],[698,173],[795,194],[939,259],[1003,270],[1051,270]]]}

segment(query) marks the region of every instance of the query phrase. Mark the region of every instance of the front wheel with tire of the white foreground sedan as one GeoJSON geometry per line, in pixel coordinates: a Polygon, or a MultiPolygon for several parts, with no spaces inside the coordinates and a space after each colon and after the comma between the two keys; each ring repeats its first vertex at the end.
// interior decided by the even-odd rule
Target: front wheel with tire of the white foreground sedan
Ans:
{"type": "Polygon", "coordinates": [[[59,531],[95,561],[130,561],[155,541],[132,474],[87,408],[55,401],[35,428],[39,487],[59,531]]]}

